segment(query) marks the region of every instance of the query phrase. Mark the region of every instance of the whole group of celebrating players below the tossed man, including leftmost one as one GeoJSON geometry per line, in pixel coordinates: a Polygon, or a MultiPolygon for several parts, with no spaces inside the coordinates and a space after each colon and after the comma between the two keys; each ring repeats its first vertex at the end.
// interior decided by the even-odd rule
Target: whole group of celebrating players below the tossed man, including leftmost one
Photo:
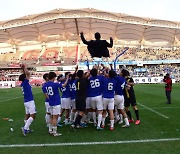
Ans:
{"type": "MultiPolygon", "coordinates": [[[[19,80],[22,81],[26,112],[22,132],[26,136],[31,132],[29,127],[35,119],[36,108],[29,84],[30,73],[24,64],[21,68],[24,73],[20,75],[19,80]]],[[[123,128],[130,127],[131,122],[140,124],[133,90],[134,81],[125,69],[116,73],[112,66],[108,68],[96,65],[84,72],[76,67],[74,73],[66,72],[64,76],[57,76],[55,72],[49,72],[44,74],[43,78],[45,83],[42,91],[46,98],[45,120],[49,134],[53,136],[62,135],[57,133],[57,127],[63,123],[64,112],[64,124],[70,125],[73,130],[87,127],[88,123],[93,123],[97,130],[103,130],[109,125],[111,131],[114,130],[114,123],[124,122],[123,128]],[[136,121],[132,119],[128,109],[130,104],[135,111],[136,121]]]]}

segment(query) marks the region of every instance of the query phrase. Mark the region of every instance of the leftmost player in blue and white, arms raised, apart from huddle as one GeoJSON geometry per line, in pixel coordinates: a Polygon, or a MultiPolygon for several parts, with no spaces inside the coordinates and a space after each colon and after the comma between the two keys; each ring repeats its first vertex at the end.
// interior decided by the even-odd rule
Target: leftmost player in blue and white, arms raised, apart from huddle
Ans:
{"type": "Polygon", "coordinates": [[[24,136],[27,135],[27,133],[32,132],[32,130],[29,129],[31,123],[35,119],[36,115],[36,107],[34,103],[34,98],[32,94],[32,88],[29,84],[29,79],[30,79],[30,73],[27,69],[27,67],[22,64],[20,67],[23,70],[23,74],[19,76],[19,81],[22,81],[21,87],[22,87],[22,92],[24,95],[24,106],[25,106],[25,111],[26,111],[26,116],[25,116],[25,125],[22,127],[22,133],[24,136]]]}

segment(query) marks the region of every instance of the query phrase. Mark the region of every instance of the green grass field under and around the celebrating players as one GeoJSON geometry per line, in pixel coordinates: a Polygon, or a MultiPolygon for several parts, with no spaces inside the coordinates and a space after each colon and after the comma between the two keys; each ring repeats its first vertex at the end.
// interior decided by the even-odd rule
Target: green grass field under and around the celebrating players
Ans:
{"type": "MultiPolygon", "coordinates": [[[[20,88],[0,89],[0,153],[180,153],[180,84],[173,84],[172,104],[165,104],[164,85],[136,85],[141,124],[131,124],[130,128],[115,125],[112,132],[106,127],[97,131],[93,125],[74,132],[70,126],[58,128],[61,137],[48,135],[45,126],[44,95],[40,88],[33,88],[37,107],[37,117],[33,122],[32,134],[24,137],[24,105],[20,88]],[[2,118],[11,118],[8,122],[2,118]],[[10,131],[13,127],[14,131],[10,131]],[[177,138],[173,141],[172,139],[177,138]],[[160,141],[159,139],[168,139],[160,141]],[[137,141],[135,143],[134,141],[137,141]],[[140,142],[141,140],[141,142],[140,142]],[[145,141],[147,140],[147,141],[145,141]],[[60,143],[111,142],[117,144],[61,145],[60,143]],[[127,141],[127,142],[124,142],[127,141]],[[3,145],[55,144],[42,147],[3,147],[3,145]],[[115,143],[115,142],[113,142],[115,143]]],[[[134,116],[134,112],[132,112],[134,116]]],[[[135,118],[135,116],[134,116],[135,118]]]]}

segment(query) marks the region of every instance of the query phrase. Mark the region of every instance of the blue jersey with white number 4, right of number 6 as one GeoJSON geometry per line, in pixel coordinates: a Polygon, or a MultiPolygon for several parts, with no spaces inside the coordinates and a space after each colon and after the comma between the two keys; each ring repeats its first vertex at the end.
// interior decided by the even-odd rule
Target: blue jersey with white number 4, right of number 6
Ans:
{"type": "Polygon", "coordinates": [[[124,95],[124,87],[126,85],[126,80],[125,78],[121,77],[121,76],[116,76],[115,77],[116,81],[117,81],[117,86],[116,86],[116,90],[115,93],[117,95],[124,95]]]}

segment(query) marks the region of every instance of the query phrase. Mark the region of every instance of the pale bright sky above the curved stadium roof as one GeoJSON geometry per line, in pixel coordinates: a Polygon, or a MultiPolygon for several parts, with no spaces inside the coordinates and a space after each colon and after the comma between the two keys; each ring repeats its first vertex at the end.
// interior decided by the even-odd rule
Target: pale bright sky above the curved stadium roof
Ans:
{"type": "Polygon", "coordinates": [[[0,21],[56,8],[95,8],[180,22],[180,0],[1,0],[0,21]]]}

